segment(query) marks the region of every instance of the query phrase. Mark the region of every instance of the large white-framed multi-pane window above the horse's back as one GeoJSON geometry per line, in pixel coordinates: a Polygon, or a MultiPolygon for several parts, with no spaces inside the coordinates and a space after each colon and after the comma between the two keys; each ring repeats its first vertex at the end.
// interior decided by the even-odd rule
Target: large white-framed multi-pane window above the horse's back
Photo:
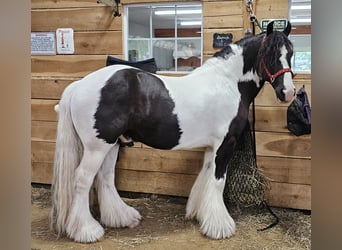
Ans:
{"type": "Polygon", "coordinates": [[[200,3],[127,5],[126,60],[154,57],[158,71],[188,72],[202,63],[200,3]]]}

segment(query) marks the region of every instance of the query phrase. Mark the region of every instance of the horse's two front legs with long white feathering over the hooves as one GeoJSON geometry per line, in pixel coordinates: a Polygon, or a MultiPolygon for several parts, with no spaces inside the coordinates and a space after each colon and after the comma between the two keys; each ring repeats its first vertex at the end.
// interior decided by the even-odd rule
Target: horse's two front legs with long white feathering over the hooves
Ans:
{"type": "Polygon", "coordinates": [[[227,163],[235,146],[235,138],[226,138],[217,150],[205,152],[204,164],[189,196],[186,217],[196,217],[201,232],[213,239],[228,238],[235,233],[235,222],[224,201],[227,163]]]}

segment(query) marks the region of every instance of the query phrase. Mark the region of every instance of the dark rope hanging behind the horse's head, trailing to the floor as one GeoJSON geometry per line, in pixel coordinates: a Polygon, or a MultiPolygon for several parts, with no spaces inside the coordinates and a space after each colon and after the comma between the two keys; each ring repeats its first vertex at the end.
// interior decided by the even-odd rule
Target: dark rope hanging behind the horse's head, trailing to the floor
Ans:
{"type": "MultiPolygon", "coordinates": [[[[259,21],[254,14],[253,11],[253,0],[247,0],[247,11],[249,12],[250,21],[252,23],[252,35],[255,36],[255,24],[258,25],[258,27],[261,29],[259,21]]],[[[253,98],[252,101],[252,114],[253,114],[253,120],[252,120],[252,139],[253,139],[253,153],[254,153],[254,159],[255,159],[255,165],[258,168],[257,161],[256,161],[256,136],[255,136],[255,98],[253,98]]],[[[275,221],[272,222],[270,225],[268,225],[265,228],[259,228],[257,231],[265,231],[268,230],[274,226],[276,226],[279,223],[279,217],[272,211],[271,207],[267,204],[266,199],[263,200],[262,204],[266,207],[266,209],[269,211],[269,213],[275,218],[275,221]]]]}

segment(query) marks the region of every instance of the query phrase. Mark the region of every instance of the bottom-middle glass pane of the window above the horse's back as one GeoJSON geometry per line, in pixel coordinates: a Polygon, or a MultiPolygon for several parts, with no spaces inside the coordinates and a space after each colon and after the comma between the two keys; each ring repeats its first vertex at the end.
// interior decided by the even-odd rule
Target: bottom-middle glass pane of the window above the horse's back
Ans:
{"type": "Polygon", "coordinates": [[[173,53],[175,51],[174,39],[157,39],[153,41],[153,57],[160,71],[174,71],[173,53]]]}

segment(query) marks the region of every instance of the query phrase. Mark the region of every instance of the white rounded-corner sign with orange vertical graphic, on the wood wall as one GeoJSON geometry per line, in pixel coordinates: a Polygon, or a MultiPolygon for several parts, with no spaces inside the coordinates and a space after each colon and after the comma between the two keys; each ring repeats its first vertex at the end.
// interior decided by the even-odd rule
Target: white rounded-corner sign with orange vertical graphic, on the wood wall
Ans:
{"type": "Polygon", "coordinates": [[[58,54],[74,54],[74,30],[72,28],[57,29],[56,40],[58,54]]]}

